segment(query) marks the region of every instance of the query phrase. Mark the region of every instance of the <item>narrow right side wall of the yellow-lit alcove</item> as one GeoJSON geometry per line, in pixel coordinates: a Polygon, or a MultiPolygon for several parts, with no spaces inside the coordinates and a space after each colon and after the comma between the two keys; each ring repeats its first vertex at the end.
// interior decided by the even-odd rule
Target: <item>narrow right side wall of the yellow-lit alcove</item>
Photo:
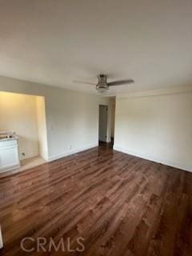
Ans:
{"type": "Polygon", "coordinates": [[[37,96],[36,104],[38,117],[39,155],[45,160],[48,160],[45,98],[42,96],[37,96]]]}

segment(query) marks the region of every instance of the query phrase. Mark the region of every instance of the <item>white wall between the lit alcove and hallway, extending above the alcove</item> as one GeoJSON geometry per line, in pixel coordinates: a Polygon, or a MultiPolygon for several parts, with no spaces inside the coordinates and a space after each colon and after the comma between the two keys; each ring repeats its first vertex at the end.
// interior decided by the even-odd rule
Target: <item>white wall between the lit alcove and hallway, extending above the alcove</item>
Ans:
{"type": "Polygon", "coordinates": [[[1,90],[45,97],[49,160],[98,145],[97,95],[5,77],[1,90]]]}

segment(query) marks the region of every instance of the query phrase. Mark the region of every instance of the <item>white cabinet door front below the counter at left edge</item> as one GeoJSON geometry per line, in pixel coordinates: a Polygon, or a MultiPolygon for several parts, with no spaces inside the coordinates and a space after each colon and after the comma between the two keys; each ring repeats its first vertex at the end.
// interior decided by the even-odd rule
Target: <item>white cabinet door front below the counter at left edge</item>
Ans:
{"type": "Polygon", "coordinates": [[[11,166],[18,166],[18,147],[7,147],[3,150],[0,150],[0,167],[6,169],[11,166]]]}

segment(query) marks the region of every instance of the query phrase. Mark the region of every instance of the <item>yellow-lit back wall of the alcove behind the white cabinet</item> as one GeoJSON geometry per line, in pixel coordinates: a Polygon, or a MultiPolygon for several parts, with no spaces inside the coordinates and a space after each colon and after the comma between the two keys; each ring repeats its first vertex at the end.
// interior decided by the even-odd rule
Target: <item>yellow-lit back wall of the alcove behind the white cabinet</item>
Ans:
{"type": "Polygon", "coordinates": [[[20,159],[38,155],[36,97],[0,92],[0,130],[19,136],[20,159]],[[22,155],[25,153],[25,156],[22,155]]]}

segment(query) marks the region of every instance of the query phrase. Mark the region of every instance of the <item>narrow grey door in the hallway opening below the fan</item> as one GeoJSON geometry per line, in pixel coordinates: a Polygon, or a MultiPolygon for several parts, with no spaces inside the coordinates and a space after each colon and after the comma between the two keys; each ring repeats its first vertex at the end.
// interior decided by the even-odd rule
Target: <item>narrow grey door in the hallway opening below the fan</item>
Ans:
{"type": "Polygon", "coordinates": [[[99,142],[107,141],[107,115],[108,115],[108,106],[99,105],[99,132],[98,132],[99,142]]]}

